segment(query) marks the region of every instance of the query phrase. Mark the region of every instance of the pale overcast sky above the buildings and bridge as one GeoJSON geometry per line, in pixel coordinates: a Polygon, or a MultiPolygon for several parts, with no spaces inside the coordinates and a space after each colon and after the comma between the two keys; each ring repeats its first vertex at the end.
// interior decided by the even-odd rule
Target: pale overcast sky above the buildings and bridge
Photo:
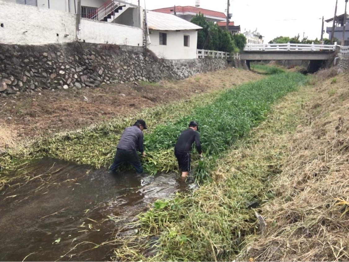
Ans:
{"type": "MultiPolygon", "coordinates": [[[[129,0],[138,3],[138,0],[129,0]]],[[[144,7],[144,0],[140,0],[144,7]]],[[[195,6],[195,0],[145,0],[148,10],[170,6],[195,6]]],[[[322,16],[325,20],[333,17],[335,0],[230,0],[230,10],[235,25],[240,25],[241,31],[255,30],[264,36],[264,42],[269,42],[277,36],[300,39],[307,36],[315,39],[321,36],[322,16]]],[[[226,13],[227,0],[200,0],[200,7],[226,13]]],[[[338,0],[337,15],[344,13],[345,1],[338,0]]],[[[348,5],[349,12],[349,5],[348,5]]],[[[325,22],[324,38],[328,38],[325,22]]]]}

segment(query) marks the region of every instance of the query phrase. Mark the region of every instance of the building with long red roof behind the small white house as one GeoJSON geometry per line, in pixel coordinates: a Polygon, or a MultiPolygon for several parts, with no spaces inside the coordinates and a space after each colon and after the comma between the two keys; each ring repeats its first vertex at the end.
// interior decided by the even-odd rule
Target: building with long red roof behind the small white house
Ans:
{"type": "Polygon", "coordinates": [[[187,21],[190,21],[194,16],[198,14],[203,14],[203,16],[205,16],[206,18],[206,21],[210,21],[210,22],[227,20],[227,16],[222,12],[203,9],[203,8],[194,7],[194,6],[172,6],[172,7],[154,9],[152,11],[176,15],[187,21]]]}

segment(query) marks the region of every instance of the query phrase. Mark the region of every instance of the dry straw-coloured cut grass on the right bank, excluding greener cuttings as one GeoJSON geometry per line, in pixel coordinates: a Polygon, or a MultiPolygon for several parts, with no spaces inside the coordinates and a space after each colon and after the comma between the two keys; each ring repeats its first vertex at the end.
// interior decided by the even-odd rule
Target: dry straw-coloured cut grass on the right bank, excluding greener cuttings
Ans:
{"type": "Polygon", "coordinates": [[[247,240],[243,260],[349,260],[348,82],[343,74],[321,82],[304,105],[307,121],[290,137],[276,197],[261,209],[267,229],[247,240]]]}

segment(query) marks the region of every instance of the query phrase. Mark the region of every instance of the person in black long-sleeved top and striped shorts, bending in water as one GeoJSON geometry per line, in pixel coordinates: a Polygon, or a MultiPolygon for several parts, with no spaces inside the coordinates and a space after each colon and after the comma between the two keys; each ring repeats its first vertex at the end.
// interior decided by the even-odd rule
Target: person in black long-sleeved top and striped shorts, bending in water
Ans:
{"type": "Polygon", "coordinates": [[[182,178],[186,178],[190,171],[191,155],[190,150],[195,142],[196,150],[199,156],[202,157],[200,144],[200,133],[198,123],[191,121],[189,128],[184,130],[178,137],[177,143],[174,146],[174,155],[178,160],[179,169],[182,171],[182,178]]]}

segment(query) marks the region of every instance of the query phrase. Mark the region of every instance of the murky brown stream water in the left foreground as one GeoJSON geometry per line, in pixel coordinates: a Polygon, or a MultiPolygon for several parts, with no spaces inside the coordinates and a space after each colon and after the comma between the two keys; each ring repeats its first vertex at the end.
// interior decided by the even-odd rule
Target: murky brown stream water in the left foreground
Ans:
{"type": "Polygon", "coordinates": [[[125,224],[187,189],[173,173],[149,180],[48,158],[25,172],[25,181],[0,192],[1,261],[108,260],[117,233],[133,232],[125,224]]]}

